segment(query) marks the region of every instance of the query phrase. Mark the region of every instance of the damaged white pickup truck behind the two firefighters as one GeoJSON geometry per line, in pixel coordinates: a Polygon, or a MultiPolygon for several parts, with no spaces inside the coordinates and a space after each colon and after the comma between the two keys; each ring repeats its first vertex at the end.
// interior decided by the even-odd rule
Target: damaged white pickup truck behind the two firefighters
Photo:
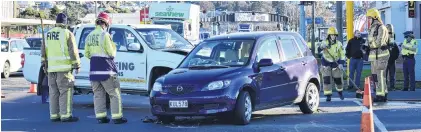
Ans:
{"type": "MultiPolygon", "coordinates": [[[[75,75],[75,91],[91,92],[89,59],[84,57],[85,39],[95,25],[82,25],[75,30],[76,43],[81,57],[80,73],[75,75]]],[[[123,93],[148,94],[155,80],[176,68],[194,48],[179,34],[164,25],[113,24],[109,29],[117,47],[114,59],[118,68],[123,93]]],[[[40,50],[25,49],[25,79],[32,83],[42,82],[40,50]],[[31,67],[26,67],[31,65],[31,67]]]]}

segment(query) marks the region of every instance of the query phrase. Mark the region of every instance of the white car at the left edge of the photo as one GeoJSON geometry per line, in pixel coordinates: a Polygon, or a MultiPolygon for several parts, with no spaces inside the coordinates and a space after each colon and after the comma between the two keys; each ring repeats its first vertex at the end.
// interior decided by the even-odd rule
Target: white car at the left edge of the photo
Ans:
{"type": "Polygon", "coordinates": [[[22,72],[23,48],[29,44],[24,39],[1,39],[0,70],[1,77],[8,78],[11,73],[22,72]]]}

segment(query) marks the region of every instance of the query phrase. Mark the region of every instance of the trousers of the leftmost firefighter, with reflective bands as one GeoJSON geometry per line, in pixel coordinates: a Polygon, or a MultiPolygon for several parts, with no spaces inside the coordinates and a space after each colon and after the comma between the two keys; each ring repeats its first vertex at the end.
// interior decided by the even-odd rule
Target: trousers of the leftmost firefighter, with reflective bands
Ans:
{"type": "Polygon", "coordinates": [[[68,72],[49,72],[50,119],[72,116],[74,76],[68,72]]]}

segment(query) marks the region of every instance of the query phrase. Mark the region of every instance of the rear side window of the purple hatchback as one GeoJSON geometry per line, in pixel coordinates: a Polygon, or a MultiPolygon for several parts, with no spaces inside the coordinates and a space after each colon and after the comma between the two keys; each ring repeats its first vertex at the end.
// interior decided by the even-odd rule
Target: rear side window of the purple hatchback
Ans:
{"type": "Polygon", "coordinates": [[[293,60],[301,58],[302,54],[299,51],[297,44],[292,38],[281,38],[281,49],[285,60],[293,60]]]}

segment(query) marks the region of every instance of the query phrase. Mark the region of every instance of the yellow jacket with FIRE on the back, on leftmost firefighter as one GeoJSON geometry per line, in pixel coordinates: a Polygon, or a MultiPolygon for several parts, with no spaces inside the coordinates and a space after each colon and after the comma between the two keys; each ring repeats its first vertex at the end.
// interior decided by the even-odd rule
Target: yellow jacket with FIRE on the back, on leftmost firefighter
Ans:
{"type": "Polygon", "coordinates": [[[46,33],[45,52],[48,60],[48,72],[65,72],[72,70],[67,39],[70,31],[55,27],[46,33]]]}

